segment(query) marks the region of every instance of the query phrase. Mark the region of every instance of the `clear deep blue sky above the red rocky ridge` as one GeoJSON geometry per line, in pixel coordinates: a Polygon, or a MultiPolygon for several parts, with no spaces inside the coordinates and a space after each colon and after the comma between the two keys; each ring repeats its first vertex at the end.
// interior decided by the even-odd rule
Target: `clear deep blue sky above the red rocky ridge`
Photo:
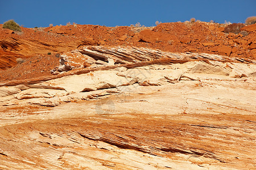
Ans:
{"type": "Polygon", "coordinates": [[[204,22],[244,23],[256,16],[256,0],[215,1],[67,1],[0,0],[0,23],[14,19],[24,27],[48,27],[49,24],[94,24],[114,27],[155,25],[159,22],[184,22],[196,18],[204,22]]]}

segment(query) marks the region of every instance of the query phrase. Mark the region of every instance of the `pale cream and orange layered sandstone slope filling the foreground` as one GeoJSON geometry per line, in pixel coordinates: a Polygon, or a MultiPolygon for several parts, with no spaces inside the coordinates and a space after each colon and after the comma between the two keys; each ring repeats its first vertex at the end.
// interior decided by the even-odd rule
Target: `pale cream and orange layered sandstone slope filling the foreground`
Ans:
{"type": "Polygon", "coordinates": [[[0,84],[0,168],[256,168],[254,61],[81,46],[58,70],[0,84]]]}

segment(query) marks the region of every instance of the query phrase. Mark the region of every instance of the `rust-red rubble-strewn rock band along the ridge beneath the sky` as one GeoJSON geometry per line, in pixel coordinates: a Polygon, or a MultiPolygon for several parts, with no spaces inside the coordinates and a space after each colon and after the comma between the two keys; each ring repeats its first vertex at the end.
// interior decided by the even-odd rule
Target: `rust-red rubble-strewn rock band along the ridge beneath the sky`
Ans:
{"type": "MultiPolygon", "coordinates": [[[[240,24],[243,26],[243,24],[240,24]]],[[[156,27],[103,27],[70,25],[23,28],[16,34],[0,28],[0,69],[16,65],[15,59],[38,54],[62,53],[82,45],[123,45],[168,52],[204,52],[229,57],[256,58],[256,24],[240,33],[224,33],[229,27],[218,23],[162,23],[156,27]]]]}

